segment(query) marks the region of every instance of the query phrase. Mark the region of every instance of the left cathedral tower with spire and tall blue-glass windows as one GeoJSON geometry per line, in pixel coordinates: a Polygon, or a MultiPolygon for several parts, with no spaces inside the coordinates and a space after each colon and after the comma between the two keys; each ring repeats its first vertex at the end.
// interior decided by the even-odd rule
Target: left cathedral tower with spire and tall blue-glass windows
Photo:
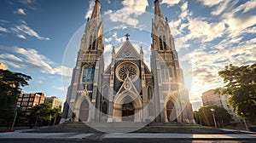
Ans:
{"type": "Polygon", "coordinates": [[[98,89],[102,88],[101,77],[104,70],[104,35],[100,5],[100,1],[96,0],[91,17],[87,20],[64,105],[63,118],[70,118],[75,122],[95,122],[98,118],[96,110],[89,109],[91,106],[98,106],[97,95],[100,94],[98,89]]]}

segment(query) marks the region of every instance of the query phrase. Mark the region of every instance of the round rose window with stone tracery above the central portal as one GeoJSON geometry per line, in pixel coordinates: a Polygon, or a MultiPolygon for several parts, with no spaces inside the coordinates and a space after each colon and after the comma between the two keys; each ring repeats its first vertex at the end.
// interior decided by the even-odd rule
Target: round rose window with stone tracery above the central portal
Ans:
{"type": "Polygon", "coordinates": [[[116,70],[116,77],[119,81],[124,82],[127,76],[129,76],[132,81],[137,80],[139,76],[138,67],[131,62],[120,64],[116,70]]]}

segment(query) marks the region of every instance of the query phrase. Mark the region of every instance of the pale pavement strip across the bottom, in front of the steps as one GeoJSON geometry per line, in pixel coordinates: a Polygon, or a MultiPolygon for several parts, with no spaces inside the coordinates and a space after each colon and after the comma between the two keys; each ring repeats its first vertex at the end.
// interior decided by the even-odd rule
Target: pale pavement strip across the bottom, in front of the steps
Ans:
{"type": "Polygon", "coordinates": [[[79,133],[0,133],[1,139],[170,139],[170,140],[256,140],[256,134],[79,134],[79,133]]]}

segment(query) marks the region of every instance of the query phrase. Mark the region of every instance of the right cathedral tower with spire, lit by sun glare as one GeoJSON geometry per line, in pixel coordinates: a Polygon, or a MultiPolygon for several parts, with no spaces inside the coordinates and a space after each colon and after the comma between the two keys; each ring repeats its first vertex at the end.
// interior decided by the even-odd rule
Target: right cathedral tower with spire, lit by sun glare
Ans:
{"type": "MultiPolygon", "coordinates": [[[[155,115],[156,122],[185,122],[188,117],[183,117],[183,112],[185,114],[187,111],[187,103],[190,106],[189,96],[184,89],[183,71],[179,66],[171,29],[167,18],[164,19],[161,12],[159,0],[154,0],[151,37],[150,62],[154,74],[154,109],[160,113],[155,115]]],[[[192,112],[191,106],[189,108],[192,112]]]]}

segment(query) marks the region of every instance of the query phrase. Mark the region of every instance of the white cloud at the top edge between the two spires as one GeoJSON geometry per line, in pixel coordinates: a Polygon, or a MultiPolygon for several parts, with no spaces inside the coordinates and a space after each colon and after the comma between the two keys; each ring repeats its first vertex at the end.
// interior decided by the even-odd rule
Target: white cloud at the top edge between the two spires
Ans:
{"type": "Polygon", "coordinates": [[[124,0],[122,4],[124,6],[122,9],[110,13],[110,20],[113,22],[126,23],[130,26],[137,26],[139,23],[137,16],[146,12],[148,1],[124,0]]]}

